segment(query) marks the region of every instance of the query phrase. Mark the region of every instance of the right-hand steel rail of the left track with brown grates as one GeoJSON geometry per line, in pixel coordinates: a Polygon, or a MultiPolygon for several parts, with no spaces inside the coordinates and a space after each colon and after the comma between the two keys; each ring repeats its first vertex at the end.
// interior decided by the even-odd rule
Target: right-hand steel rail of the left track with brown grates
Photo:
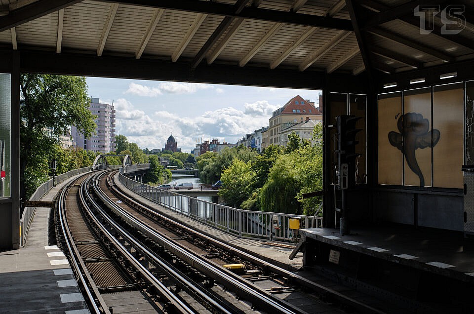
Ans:
{"type": "MultiPolygon", "coordinates": [[[[89,195],[89,193],[87,193],[87,184],[90,180],[93,181],[94,177],[97,176],[100,176],[100,173],[89,177],[87,180],[84,180],[81,185],[81,189],[79,190],[79,197],[84,205],[86,204],[86,200],[88,200],[101,214],[101,216],[107,219],[109,223],[115,225],[117,229],[121,229],[117,224],[115,224],[111,219],[109,219],[109,217],[107,217],[100,205],[95,202],[95,200],[89,195]]],[[[117,240],[117,238],[113,236],[110,231],[107,230],[107,228],[105,228],[103,224],[97,219],[94,213],[90,210],[89,206],[84,206],[84,209],[87,211],[88,215],[91,217],[94,223],[101,229],[101,232],[103,232],[103,234],[107,236],[116,245],[116,247],[122,252],[122,254],[127,257],[127,259],[134,265],[134,267],[138,269],[140,273],[157,288],[161,297],[164,297],[168,302],[170,302],[173,305],[174,309],[179,313],[195,313],[193,309],[190,309],[182,300],[180,300],[176,295],[174,295],[170,290],[168,290],[167,287],[161,281],[159,281],[152,273],[150,273],[143,265],[141,265],[130,252],[126,250],[126,248],[117,240]]]]}

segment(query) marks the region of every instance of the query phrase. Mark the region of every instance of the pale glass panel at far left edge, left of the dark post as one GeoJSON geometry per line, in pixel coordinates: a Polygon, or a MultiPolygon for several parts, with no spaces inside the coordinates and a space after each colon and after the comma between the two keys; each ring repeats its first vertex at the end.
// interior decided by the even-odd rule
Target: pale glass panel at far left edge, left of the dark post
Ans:
{"type": "Polygon", "coordinates": [[[10,75],[0,73],[0,197],[10,197],[10,75]]]}

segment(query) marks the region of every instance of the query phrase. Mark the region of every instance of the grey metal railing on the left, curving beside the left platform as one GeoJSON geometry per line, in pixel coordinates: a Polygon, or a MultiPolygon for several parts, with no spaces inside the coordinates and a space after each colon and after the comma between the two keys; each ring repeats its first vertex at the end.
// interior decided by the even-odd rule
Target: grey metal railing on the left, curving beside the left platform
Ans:
{"type": "MultiPolygon", "coordinates": [[[[36,189],[35,193],[30,197],[30,200],[40,200],[46,193],[51,190],[55,184],[61,183],[75,175],[90,171],[90,167],[84,167],[74,169],[65,173],[62,173],[53,179],[49,179],[36,189]]],[[[25,245],[26,236],[28,234],[28,228],[30,227],[31,219],[35,213],[37,207],[25,207],[20,220],[20,247],[25,245]]]]}

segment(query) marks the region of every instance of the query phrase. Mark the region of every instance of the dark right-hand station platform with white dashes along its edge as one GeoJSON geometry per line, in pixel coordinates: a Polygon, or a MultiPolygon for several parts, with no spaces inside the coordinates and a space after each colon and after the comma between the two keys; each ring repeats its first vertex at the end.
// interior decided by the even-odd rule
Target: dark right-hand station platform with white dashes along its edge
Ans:
{"type": "Polygon", "coordinates": [[[358,291],[397,300],[415,313],[474,313],[474,239],[462,232],[389,224],[300,230],[293,254],[303,269],[358,291]]]}

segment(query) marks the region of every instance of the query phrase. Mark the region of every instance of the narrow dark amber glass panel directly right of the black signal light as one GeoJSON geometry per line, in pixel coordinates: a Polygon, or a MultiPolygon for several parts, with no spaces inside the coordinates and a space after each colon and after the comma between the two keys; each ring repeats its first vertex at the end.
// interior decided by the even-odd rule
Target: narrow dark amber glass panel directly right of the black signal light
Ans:
{"type": "Polygon", "coordinates": [[[356,128],[361,129],[356,134],[356,153],[360,154],[356,159],[356,183],[367,183],[367,131],[366,131],[366,95],[349,95],[349,115],[360,117],[356,122],[356,128]]]}

